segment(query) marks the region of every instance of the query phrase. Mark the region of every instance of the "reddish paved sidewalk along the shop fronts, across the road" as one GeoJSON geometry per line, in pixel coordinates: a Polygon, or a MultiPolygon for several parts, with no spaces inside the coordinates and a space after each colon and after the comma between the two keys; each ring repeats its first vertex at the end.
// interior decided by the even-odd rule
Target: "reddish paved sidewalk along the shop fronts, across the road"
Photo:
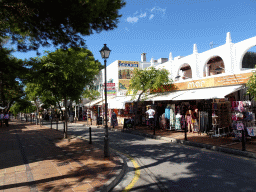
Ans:
{"type": "MultiPolygon", "coordinates": [[[[86,121],[77,121],[76,123],[87,125],[86,121]]],[[[88,124],[90,125],[91,122],[89,122],[88,124]]],[[[96,126],[96,122],[93,121],[92,125],[96,126]]],[[[100,125],[100,126],[102,127],[102,125],[100,125]]],[[[109,124],[109,127],[110,127],[110,124],[109,124]]],[[[115,129],[123,130],[123,126],[122,125],[116,126],[115,129]]],[[[142,127],[138,126],[138,127],[136,127],[135,131],[142,133],[142,134],[153,135],[153,130],[150,130],[146,126],[142,126],[142,127]]],[[[169,131],[169,130],[156,130],[156,136],[160,136],[160,137],[184,140],[184,137],[185,137],[184,135],[185,135],[184,132],[169,131]]],[[[198,133],[189,133],[188,132],[187,139],[188,139],[188,141],[192,141],[192,142],[196,142],[196,143],[209,144],[209,145],[213,145],[213,146],[242,150],[242,142],[233,141],[232,137],[211,138],[205,133],[202,133],[201,135],[199,135],[198,133]]],[[[248,140],[246,142],[246,151],[256,154],[256,137],[251,137],[251,140],[248,140]]]]}

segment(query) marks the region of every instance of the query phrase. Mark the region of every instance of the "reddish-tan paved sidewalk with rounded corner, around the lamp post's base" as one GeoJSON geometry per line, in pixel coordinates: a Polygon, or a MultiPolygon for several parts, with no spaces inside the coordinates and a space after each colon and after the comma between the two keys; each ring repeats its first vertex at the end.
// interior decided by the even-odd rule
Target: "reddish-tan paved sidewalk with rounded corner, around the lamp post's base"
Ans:
{"type": "Polygon", "coordinates": [[[11,121],[0,127],[0,192],[107,191],[124,168],[95,145],[45,126],[11,121]]]}

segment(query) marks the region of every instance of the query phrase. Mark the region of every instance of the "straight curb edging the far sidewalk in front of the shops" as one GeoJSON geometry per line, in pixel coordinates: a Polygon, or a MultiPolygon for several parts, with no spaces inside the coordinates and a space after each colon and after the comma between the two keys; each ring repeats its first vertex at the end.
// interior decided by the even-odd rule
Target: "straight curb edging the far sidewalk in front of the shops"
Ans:
{"type": "Polygon", "coordinates": [[[223,152],[223,153],[228,153],[228,154],[233,154],[233,155],[256,159],[256,154],[252,153],[252,152],[248,152],[248,151],[241,151],[238,149],[230,149],[230,148],[226,148],[226,147],[219,147],[219,146],[209,145],[209,144],[204,144],[204,143],[196,143],[196,142],[192,142],[192,141],[184,141],[184,140],[175,139],[175,138],[155,136],[155,135],[150,135],[150,134],[146,134],[146,133],[139,133],[139,132],[133,131],[133,130],[124,130],[123,132],[134,134],[134,135],[139,135],[139,136],[143,136],[143,137],[148,137],[151,139],[165,140],[165,141],[170,141],[172,143],[179,143],[179,144],[189,145],[189,146],[198,147],[198,148],[205,148],[205,149],[208,149],[211,151],[218,151],[218,152],[223,152]]]}

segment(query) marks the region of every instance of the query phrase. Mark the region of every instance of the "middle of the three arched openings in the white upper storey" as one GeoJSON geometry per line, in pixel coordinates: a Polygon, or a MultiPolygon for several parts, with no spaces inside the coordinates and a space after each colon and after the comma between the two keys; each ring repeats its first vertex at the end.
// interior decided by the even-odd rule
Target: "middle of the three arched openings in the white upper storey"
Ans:
{"type": "Polygon", "coordinates": [[[211,57],[207,62],[204,77],[225,73],[224,61],[220,56],[211,57]]]}

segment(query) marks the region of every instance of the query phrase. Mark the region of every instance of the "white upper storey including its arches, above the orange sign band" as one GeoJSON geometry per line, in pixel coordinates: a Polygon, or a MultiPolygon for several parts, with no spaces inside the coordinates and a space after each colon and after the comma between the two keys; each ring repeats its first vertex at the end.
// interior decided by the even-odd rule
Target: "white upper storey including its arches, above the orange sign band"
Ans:
{"type": "MultiPolygon", "coordinates": [[[[170,71],[170,78],[174,81],[191,81],[208,78],[209,76],[223,76],[240,74],[251,71],[251,68],[242,66],[246,52],[256,45],[256,37],[238,43],[232,43],[230,32],[227,33],[226,43],[208,51],[198,53],[194,44],[193,53],[185,57],[172,58],[157,65],[156,68],[165,68],[170,71]]],[[[256,63],[255,63],[256,65],[256,63]]]]}

